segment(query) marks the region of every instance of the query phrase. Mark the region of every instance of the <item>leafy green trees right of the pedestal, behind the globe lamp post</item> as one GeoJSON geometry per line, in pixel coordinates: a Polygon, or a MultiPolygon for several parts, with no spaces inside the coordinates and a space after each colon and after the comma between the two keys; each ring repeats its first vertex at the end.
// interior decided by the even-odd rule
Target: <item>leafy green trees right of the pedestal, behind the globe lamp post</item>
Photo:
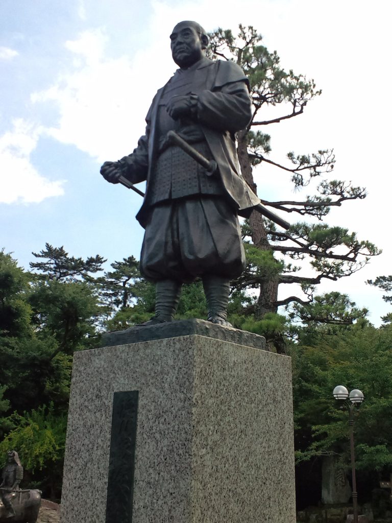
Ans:
{"type": "Polygon", "coordinates": [[[348,415],[332,397],[333,388],[342,384],[365,395],[354,426],[357,468],[389,474],[392,327],[376,329],[359,320],[350,327],[321,325],[312,331],[304,333],[306,345],[300,334],[292,348],[297,460],[336,453],[349,467],[348,415]]]}

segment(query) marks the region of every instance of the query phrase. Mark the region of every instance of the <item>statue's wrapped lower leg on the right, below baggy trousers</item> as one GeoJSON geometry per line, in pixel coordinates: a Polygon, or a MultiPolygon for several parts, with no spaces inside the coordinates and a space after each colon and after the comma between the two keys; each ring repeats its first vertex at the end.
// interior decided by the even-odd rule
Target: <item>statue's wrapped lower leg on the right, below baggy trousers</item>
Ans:
{"type": "Polygon", "coordinates": [[[208,306],[208,321],[232,327],[227,321],[230,280],[214,275],[203,276],[203,287],[208,306]]]}

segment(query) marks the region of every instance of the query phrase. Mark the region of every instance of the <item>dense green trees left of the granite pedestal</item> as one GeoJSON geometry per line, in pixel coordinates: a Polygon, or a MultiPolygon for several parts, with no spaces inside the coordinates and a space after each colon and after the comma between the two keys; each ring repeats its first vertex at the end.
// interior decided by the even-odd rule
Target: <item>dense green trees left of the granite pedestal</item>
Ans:
{"type": "Polygon", "coordinates": [[[19,450],[27,476],[34,472],[46,495],[58,497],[72,357],[97,343],[92,275],[102,258],[65,263],[63,248],[47,251],[50,263],[33,265],[39,275],[0,253],[0,434],[3,451],[19,450]]]}

